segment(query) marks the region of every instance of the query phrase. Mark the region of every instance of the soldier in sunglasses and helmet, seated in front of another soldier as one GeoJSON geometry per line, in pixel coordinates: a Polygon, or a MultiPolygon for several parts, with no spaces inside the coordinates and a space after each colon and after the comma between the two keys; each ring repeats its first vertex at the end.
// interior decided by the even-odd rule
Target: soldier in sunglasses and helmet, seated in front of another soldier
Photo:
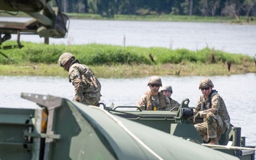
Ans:
{"type": "Polygon", "coordinates": [[[146,91],[137,106],[142,110],[171,110],[169,98],[159,92],[162,86],[161,78],[152,76],[149,78],[148,86],[150,90],[146,91]]]}

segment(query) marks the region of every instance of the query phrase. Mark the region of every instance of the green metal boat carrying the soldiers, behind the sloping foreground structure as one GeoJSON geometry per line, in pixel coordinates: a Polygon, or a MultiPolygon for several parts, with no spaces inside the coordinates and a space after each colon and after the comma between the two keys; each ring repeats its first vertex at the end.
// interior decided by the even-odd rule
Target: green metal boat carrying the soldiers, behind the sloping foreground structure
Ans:
{"type": "MultiPolygon", "coordinates": [[[[130,119],[134,122],[144,124],[154,129],[159,129],[163,132],[169,133],[176,137],[182,137],[183,139],[188,139],[191,142],[196,142],[198,144],[204,144],[200,135],[193,126],[193,108],[188,107],[189,100],[185,99],[181,102],[181,106],[175,110],[169,111],[142,111],[142,110],[125,110],[125,106],[117,107],[122,110],[109,109],[112,114],[116,114],[120,117],[130,119]]],[[[129,107],[131,108],[131,106],[129,107]]],[[[202,122],[198,119],[196,123],[202,122]]],[[[230,154],[238,157],[239,159],[255,159],[255,146],[246,146],[245,137],[241,137],[241,128],[234,127],[230,125],[230,129],[222,135],[220,141],[222,149],[218,147],[213,147],[218,151],[222,151],[226,154],[230,154]],[[234,149],[228,149],[225,145],[228,142],[232,142],[234,149]],[[242,149],[237,149],[237,147],[243,147],[242,149]],[[248,148],[253,148],[254,150],[248,151],[248,148]]]]}

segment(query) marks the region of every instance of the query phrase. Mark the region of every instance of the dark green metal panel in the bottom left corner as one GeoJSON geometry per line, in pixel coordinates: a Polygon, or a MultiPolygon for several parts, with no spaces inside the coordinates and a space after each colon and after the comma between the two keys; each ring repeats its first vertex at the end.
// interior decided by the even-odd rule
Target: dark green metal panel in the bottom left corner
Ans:
{"type": "Polygon", "coordinates": [[[38,132],[41,129],[38,119],[41,121],[41,108],[0,108],[1,160],[39,158],[41,139],[23,136],[24,132],[38,132]]]}

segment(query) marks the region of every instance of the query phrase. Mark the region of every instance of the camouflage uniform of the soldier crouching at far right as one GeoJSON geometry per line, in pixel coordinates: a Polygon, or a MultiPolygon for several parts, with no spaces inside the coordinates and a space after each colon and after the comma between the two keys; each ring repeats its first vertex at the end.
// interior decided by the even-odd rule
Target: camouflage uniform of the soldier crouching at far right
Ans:
{"type": "Polygon", "coordinates": [[[207,100],[201,95],[195,108],[195,114],[201,110],[203,110],[201,115],[203,122],[195,124],[198,133],[205,142],[208,139],[220,139],[221,134],[224,134],[230,126],[230,117],[223,98],[216,90],[210,92],[207,100]]]}

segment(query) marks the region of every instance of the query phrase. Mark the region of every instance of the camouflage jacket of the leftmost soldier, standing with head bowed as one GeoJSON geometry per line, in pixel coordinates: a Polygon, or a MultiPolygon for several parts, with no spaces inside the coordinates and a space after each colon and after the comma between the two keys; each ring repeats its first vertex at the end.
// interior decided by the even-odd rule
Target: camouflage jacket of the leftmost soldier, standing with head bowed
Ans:
{"type": "MultiPolygon", "coordinates": [[[[99,99],[101,85],[99,80],[95,78],[94,73],[86,65],[80,63],[74,63],[69,69],[69,80],[75,87],[74,100],[82,102],[87,98],[99,99]]],[[[90,105],[90,104],[88,104],[90,105]]]]}

